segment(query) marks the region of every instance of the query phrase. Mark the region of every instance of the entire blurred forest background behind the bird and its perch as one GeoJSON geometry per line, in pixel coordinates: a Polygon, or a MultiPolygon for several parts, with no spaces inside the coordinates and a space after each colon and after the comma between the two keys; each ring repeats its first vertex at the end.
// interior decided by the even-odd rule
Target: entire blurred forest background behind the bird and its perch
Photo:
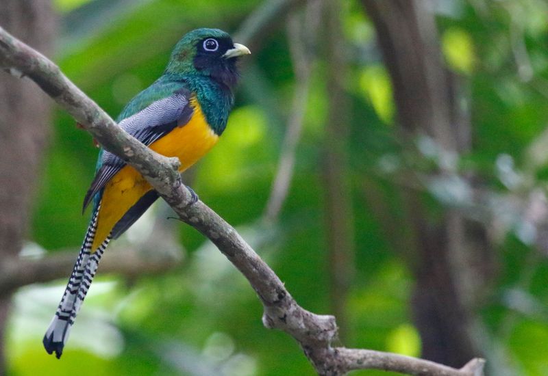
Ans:
{"type": "MultiPolygon", "coordinates": [[[[0,25],[113,117],[186,31],[246,40],[227,131],[184,176],[201,200],[301,306],[336,314],[343,345],[548,375],[545,1],[3,0],[0,25]]],[[[0,270],[32,274],[0,278],[3,373],[314,374],[163,202],[112,243],[47,355],[97,148],[36,86],[0,85],[0,270]]]]}

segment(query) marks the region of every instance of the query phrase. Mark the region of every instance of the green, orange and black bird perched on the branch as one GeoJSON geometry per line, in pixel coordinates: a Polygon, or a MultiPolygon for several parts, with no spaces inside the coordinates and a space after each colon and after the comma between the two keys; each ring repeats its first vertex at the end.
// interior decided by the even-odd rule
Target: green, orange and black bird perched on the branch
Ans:
{"type": "MultiPolygon", "coordinates": [[[[220,29],[195,29],[175,44],[163,74],[127,103],[116,119],[127,133],[166,157],[177,157],[179,172],[218,142],[234,105],[236,61],[251,53],[220,29]]],[[[192,201],[197,195],[190,187],[192,201]]],[[[84,242],[42,343],[59,359],[99,260],[158,198],[134,167],[101,148],[95,178],[84,197],[92,204],[84,242]]]]}

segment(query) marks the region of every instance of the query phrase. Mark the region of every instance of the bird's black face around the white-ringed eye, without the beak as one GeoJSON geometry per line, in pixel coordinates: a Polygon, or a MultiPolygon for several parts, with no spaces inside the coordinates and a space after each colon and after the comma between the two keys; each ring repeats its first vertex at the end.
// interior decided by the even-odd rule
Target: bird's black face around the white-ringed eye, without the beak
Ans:
{"type": "Polygon", "coordinates": [[[194,58],[195,68],[212,77],[215,81],[232,88],[238,79],[236,57],[223,57],[229,49],[234,49],[230,38],[205,38],[197,43],[194,58]]]}

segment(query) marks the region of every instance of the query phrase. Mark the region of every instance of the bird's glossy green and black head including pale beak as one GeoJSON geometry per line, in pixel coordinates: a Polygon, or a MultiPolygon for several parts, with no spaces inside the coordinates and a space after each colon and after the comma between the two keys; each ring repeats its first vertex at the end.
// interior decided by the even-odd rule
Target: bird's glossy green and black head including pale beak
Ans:
{"type": "Polygon", "coordinates": [[[166,73],[199,74],[232,88],[238,79],[236,59],[251,53],[219,29],[195,29],[187,33],[173,49],[166,73]]]}

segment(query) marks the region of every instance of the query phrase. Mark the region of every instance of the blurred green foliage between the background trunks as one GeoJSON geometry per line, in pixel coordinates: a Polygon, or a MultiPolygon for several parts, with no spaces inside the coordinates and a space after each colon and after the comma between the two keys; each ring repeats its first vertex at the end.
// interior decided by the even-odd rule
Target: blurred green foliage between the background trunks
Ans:
{"type": "MultiPolygon", "coordinates": [[[[112,9],[109,3],[55,1],[62,27],[54,59],[79,88],[116,116],[127,100],[162,73],[171,47],[186,31],[235,31],[261,2],[114,1],[123,6],[112,9]]],[[[497,157],[507,153],[519,166],[548,120],[547,5],[540,0],[445,3],[452,5],[438,14],[443,53],[449,68],[468,82],[465,105],[473,122],[474,148],[460,162],[482,173],[487,185],[503,189],[493,167],[497,157]],[[532,64],[528,80],[520,79],[514,64],[510,30],[515,24],[532,64]]],[[[413,278],[406,260],[391,249],[364,195],[368,180],[390,198],[386,215],[401,217],[397,184],[379,173],[397,166],[401,157],[392,88],[378,52],[371,53],[374,29],[358,2],[345,5],[343,23],[350,59],[349,168],[356,230],[356,276],[345,345],[417,356],[420,338],[409,309],[413,278]]],[[[295,84],[283,28],[266,38],[260,51],[253,51],[242,71],[227,131],[196,167],[192,183],[204,202],[258,246],[299,304],[318,313],[329,312],[320,165],[327,101],[323,64],[320,59],[312,77],[295,178],[277,226],[263,228],[259,219],[295,84]]],[[[51,252],[77,249],[88,221],[80,205],[96,156],[90,136],[58,111],[34,206],[32,241],[51,252]]],[[[9,328],[12,374],[191,375],[200,374],[192,371],[192,366],[199,366],[206,370],[204,375],[210,374],[207,370],[227,375],[312,375],[294,340],[264,329],[260,303],[242,276],[195,230],[179,228],[188,255],[177,270],[131,281],[101,276],[99,271],[98,280],[105,285],[98,285],[104,288],[92,287],[61,361],[47,355],[40,341],[64,281],[55,288],[23,289],[16,300],[22,317],[14,317],[9,328]],[[36,293],[42,304],[31,307],[36,293]],[[177,359],[186,362],[186,373],[177,368],[177,359]]],[[[512,234],[497,252],[501,273],[482,311],[489,336],[495,347],[505,349],[506,361],[521,375],[547,375],[545,256],[512,234]],[[513,306],[506,299],[509,291],[519,291],[540,308],[513,306]]]]}

